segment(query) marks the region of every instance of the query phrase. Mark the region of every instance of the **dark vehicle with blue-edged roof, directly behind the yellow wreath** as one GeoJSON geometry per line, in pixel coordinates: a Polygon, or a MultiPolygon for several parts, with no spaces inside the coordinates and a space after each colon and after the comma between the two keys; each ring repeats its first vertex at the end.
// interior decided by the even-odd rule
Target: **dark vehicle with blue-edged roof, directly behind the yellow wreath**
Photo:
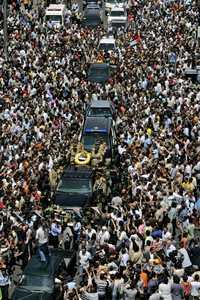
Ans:
{"type": "Polygon", "coordinates": [[[91,151],[95,145],[106,143],[107,157],[112,157],[116,141],[113,121],[108,117],[87,117],[85,120],[81,143],[84,149],[91,151]]]}

